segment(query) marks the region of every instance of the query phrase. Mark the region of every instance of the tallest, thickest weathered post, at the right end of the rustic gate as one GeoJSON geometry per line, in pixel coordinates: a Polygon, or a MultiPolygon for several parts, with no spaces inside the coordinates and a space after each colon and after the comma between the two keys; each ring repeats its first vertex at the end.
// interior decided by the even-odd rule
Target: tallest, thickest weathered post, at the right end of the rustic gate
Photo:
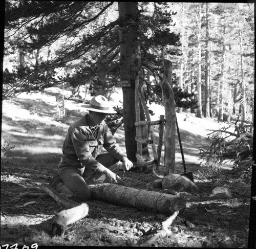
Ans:
{"type": "Polygon", "coordinates": [[[172,89],[173,64],[169,58],[163,59],[164,76],[162,81],[163,104],[165,109],[164,165],[168,174],[175,171],[175,101],[172,89]]]}

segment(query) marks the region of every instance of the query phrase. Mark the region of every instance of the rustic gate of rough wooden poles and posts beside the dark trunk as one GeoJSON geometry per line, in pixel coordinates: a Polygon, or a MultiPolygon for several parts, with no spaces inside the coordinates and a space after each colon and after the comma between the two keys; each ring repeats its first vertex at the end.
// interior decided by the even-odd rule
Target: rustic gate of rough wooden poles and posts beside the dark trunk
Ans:
{"type": "Polygon", "coordinates": [[[165,109],[164,116],[160,116],[160,120],[151,121],[150,113],[148,112],[144,96],[139,86],[139,80],[135,80],[135,109],[136,109],[136,138],[137,141],[137,162],[144,162],[142,159],[142,143],[148,143],[148,139],[142,140],[141,138],[141,126],[147,125],[148,132],[147,137],[150,134],[151,144],[154,155],[154,162],[156,163],[156,169],[159,170],[160,157],[163,143],[163,132],[165,133],[164,139],[164,165],[168,167],[168,173],[174,173],[175,170],[175,132],[176,132],[176,103],[174,101],[174,92],[172,89],[172,76],[173,76],[173,64],[170,61],[170,57],[167,55],[163,58],[164,75],[162,80],[163,89],[163,105],[165,109]],[[140,103],[145,112],[146,121],[140,121],[140,103]],[[159,143],[156,150],[156,142],[152,125],[159,124],[159,143]],[[165,125],[165,129],[164,129],[165,125]]]}

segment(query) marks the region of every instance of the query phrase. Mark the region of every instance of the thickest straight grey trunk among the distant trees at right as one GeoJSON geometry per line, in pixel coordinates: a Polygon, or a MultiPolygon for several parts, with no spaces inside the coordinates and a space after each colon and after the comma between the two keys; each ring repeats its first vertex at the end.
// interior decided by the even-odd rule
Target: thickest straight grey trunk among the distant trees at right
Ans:
{"type": "Polygon", "coordinates": [[[205,40],[205,117],[210,116],[210,83],[209,83],[209,13],[208,13],[208,3],[206,3],[206,40],[205,40]]]}

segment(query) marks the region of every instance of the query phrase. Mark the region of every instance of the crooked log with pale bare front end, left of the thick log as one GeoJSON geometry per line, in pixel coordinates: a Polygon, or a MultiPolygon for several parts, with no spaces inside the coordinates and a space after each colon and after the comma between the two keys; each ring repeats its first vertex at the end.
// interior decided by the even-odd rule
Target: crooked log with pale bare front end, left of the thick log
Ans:
{"type": "Polygon", "coordinates": [[[67,225],[78,221],[88,215],[89,206],[87,203],[81,203],[78,201],[70,200],[61,196],[55,189],[48,185],[40,185],[41,190],[47,192],[55,201],[60,205],[67,208],[56,214],[52,224],[52,234],[61,236],[67,227],[67,225]]]}

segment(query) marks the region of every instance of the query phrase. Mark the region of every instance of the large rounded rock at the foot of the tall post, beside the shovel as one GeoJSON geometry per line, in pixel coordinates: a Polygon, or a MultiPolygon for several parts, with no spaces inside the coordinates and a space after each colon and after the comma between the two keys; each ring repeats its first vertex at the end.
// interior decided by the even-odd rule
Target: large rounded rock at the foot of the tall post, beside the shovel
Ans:
{"type": "Polygon", "coordinates": [[[196,192],[198,187],[186,176],[180,174],[169,174],[162,178],[163,189],[173,189],[178,192],[196,192]]]}

